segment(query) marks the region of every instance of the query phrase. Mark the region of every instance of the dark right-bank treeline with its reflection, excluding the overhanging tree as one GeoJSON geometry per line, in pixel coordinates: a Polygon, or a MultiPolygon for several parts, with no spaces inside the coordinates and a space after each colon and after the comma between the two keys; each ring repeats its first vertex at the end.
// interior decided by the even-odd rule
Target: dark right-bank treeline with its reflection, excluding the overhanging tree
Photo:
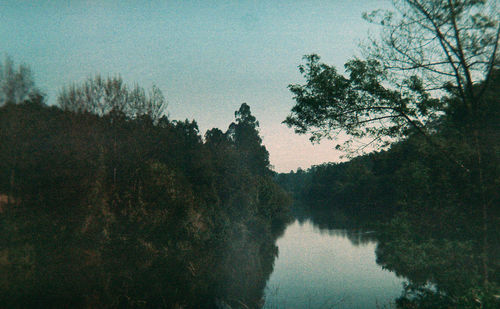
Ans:
{"type": "Polygon", "coordinates": [[[430,140],[413,132],[385,151],[277,176],[295,211],[320,225],[376,227],[377,262],[409,279],[400,308],[498,306],[498,71],[490,85],[473,120],[447,98],[430,140]]]}

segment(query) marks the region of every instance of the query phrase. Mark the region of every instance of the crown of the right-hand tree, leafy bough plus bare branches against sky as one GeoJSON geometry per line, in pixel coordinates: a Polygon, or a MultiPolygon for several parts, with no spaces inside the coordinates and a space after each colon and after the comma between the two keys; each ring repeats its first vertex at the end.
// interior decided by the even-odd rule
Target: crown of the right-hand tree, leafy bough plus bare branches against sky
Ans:
{"type": "Polygon", "coordinates": [[[320,140],[343,131],[375,141],[404,136],[409,128],[429,135],[425,125],[446,107],[436,99],[443,91],[460,97],[471,123],[477,118],[499,65],[497,2],[393,2],[395,11],[364,15],[382,27],[382,36],[366,48],[366,60],[345,65],[347,77],[317,55],[305,57],[299,70],[307,82],[289,86],[296,105],[285,120],[297,133],[320,140]]]}

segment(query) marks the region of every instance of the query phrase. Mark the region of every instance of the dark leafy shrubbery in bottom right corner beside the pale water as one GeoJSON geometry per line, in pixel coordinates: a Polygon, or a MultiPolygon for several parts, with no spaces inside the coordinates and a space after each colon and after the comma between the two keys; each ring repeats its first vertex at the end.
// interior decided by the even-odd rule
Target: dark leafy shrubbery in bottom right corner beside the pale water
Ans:
{"type": "Polygon", "coordinates": [[[487,265],[492,275],[485,287],[480,239],[450,231],[425,235],[416,232],[417,225],[400,216],[378,237],[377,263],[408,279],[398,307],[498,308],[498,248],[491,250],[495,258],[487,265]]]}

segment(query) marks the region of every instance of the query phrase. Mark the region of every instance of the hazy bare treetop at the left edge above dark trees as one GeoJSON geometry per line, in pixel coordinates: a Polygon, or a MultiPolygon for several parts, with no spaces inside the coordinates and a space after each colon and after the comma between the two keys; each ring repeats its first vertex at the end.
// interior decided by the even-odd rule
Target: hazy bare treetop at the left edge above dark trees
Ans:
{"type": "Polygon", "coordinates": [[[18,104],[35,97],[43,97],[26,65],[14,67],[14,62],[6,57],[0,63],[0,106],[6,103],[18,104]]]}

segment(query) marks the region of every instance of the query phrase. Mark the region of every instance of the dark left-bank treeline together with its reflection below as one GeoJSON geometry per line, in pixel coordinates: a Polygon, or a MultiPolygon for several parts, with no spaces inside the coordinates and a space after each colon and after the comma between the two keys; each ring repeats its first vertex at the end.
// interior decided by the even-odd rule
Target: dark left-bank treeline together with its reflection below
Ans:
{"type": "Polygon", "coordinates": [[[0,307],[258,307],[289,197],[249,106],[202,138],[124,89],[3,96],[0,307]]]}

